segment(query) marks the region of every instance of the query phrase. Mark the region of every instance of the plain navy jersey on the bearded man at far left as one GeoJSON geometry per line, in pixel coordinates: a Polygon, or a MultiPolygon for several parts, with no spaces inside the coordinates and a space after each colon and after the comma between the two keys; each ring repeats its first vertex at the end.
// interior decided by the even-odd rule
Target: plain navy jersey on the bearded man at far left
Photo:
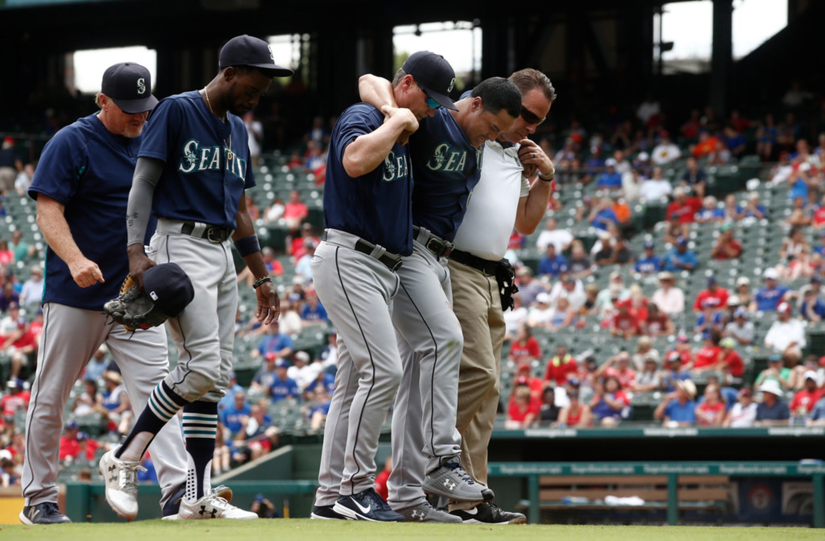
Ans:
{"type": "MultiPolygon", "coordinates": [[[[57,132],[40,155],[29,195],[42,193],[65,207],[75,244],[97,263],[106,282],[80,287],[68,266],[46,249],[44,302],[102,311],[117,297],[129,273],[126,256],[126,202],[141,137],[127,139],[106,130],[97,115],[79,119],[57,132]]],[[[155,222],[147,228],[148,239],[155,222]]]]}

